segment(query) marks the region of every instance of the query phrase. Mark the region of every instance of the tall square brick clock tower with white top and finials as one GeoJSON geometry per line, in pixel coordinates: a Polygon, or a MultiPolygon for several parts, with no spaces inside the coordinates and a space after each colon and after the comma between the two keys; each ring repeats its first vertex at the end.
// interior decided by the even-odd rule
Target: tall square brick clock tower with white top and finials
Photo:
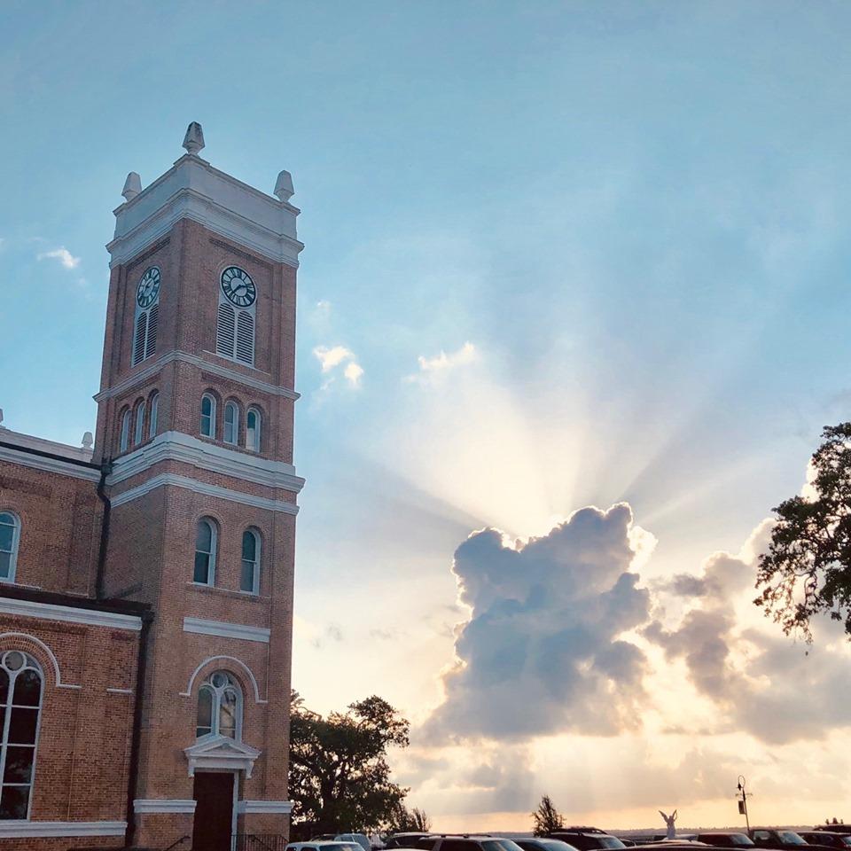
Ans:
{"type": "Polygon", "coordinates": [[[302,245],[288,172],[272,195],[242,183],[199,155],[194,122],[183,147],[144,188],[128,176],[107,246],[97,592],[153,612],[129,840],[229,851],[288,834],[302,245]]]}

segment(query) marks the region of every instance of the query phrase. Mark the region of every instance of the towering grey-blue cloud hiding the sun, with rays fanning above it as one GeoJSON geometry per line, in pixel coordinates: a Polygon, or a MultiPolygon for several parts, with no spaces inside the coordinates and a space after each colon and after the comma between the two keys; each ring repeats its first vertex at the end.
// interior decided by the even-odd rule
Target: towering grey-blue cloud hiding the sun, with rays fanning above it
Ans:
{"type": "Polygon", "coordinates": [[[470,621],[429,738],[527,738],[635,728],[644,653],[620,636],[649,617],[630,573],[632,513],[586,508],[525,545],[495,529],[471,535],[454,572],[470,621]]]}

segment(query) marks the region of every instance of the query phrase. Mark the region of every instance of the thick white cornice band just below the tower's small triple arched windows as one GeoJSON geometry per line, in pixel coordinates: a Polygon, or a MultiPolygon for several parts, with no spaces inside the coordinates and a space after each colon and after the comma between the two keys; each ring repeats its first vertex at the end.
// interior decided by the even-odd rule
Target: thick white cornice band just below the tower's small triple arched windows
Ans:
{"type": "Polygon", "coordinates": [[[280,488],[293,494],[304,487],[304,480],[295,475],[292,464],[238,452],[183,432],[163,432],[150,443],[116,458],[106,484],[113,487],[162,461],[179,461],[232,479],[280,488]]]}

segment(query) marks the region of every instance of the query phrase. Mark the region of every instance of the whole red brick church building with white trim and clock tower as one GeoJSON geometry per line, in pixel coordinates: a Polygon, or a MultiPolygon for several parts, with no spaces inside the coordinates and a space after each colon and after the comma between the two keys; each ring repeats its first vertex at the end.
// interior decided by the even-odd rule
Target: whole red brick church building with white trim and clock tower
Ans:
{"type": "Polygon", "coordinates": [[[4,851],[288,834],[299,210],[203,146],[115,210],[93,445],[0,417],[4,851]]]}

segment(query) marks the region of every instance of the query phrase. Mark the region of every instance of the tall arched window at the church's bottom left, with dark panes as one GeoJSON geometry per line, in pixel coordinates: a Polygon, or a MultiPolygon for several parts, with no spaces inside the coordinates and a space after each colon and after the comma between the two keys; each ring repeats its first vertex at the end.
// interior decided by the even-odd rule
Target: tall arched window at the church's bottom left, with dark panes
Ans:
{"type": "Polygon", "coordinates": [[[20,650],[0,654],[0,820],[27,819],[35,780],[42,669],[20,650]]]}

